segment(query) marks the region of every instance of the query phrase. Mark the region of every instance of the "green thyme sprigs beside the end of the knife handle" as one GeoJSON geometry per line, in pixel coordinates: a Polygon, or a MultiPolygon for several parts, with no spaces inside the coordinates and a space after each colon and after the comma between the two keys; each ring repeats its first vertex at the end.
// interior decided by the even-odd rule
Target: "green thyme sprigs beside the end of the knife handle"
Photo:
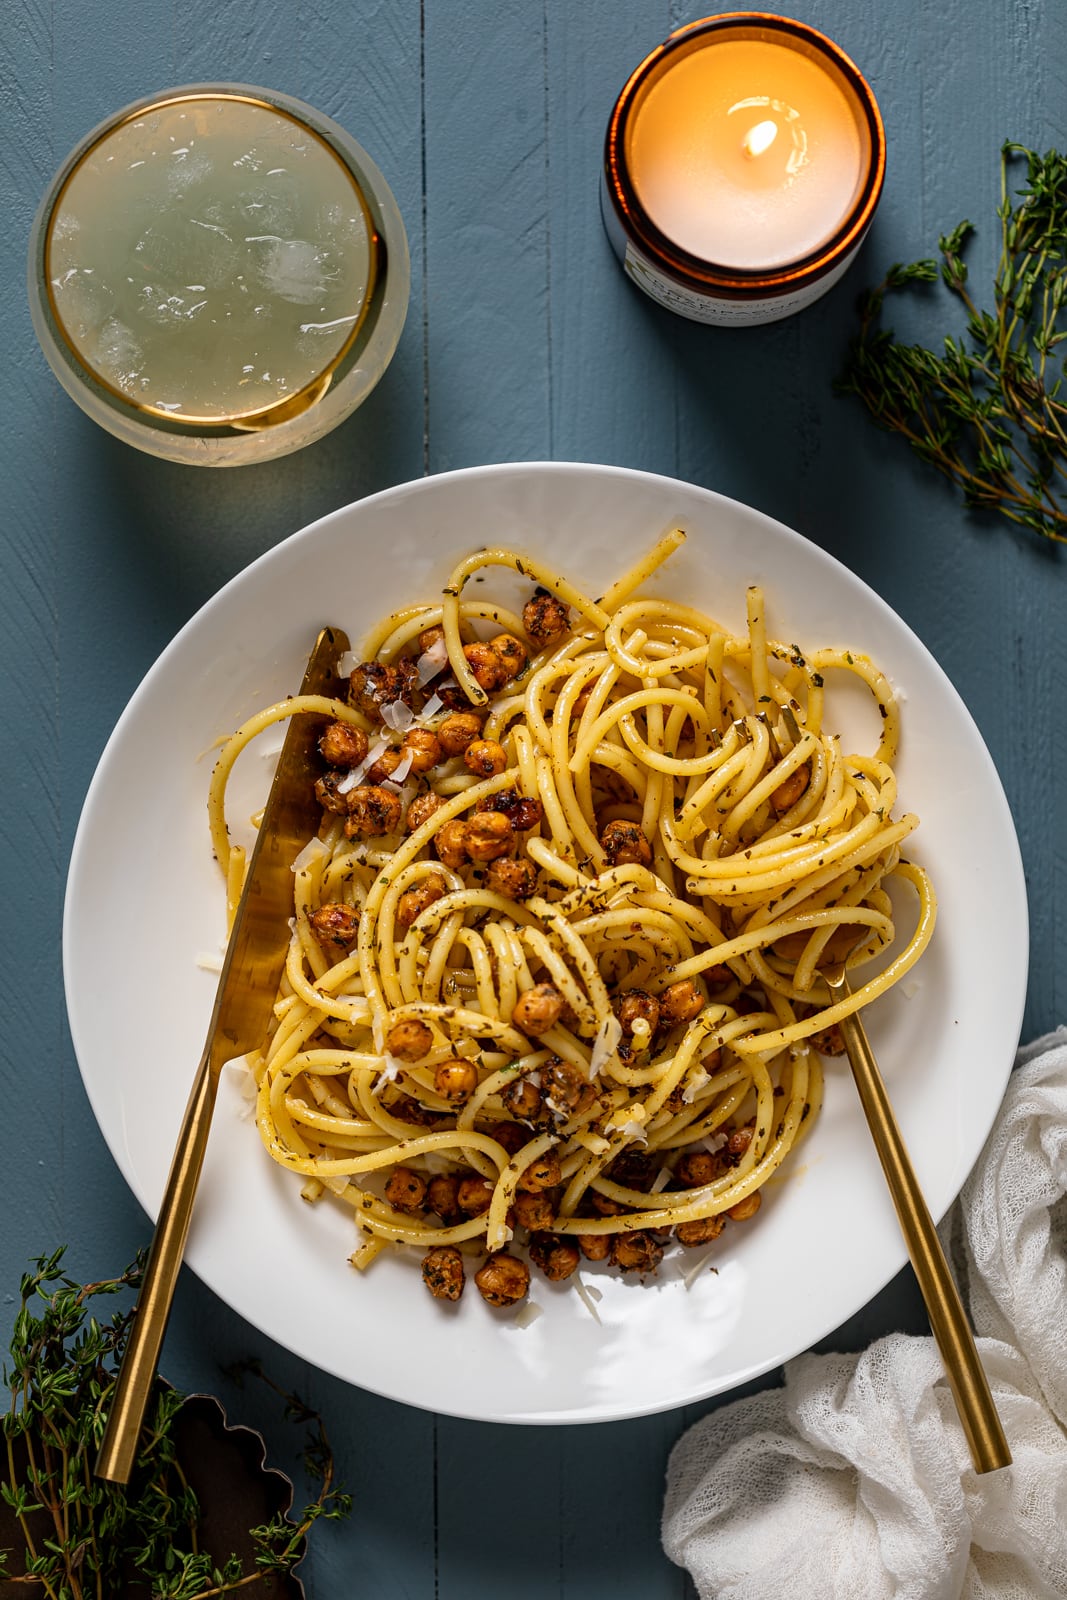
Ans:
{"type": "MultiPolygon", "coordinates": [[[[318,1493],[294,1520],[278,1515],[250,1530],[251,1563],[230,1555],[219,1565],[200,1549],[200,1507],[178,1458],[181,1394],[157,1387],[128,1488],[93,1475],[131,1310],[101,1323],[90,1302],[136,1288],[141,1262],[117,1278],[80,1286],[64,1275],[62,1254],[38,1258],[22,1277],[11,1365],[3,1373],[11,1400],[3,1416],[0,1499],[22,1549],[0,1552],[0,1579],[26,1586],[27,1600],[115,1600],[134,1592],[152,1600],[216,1600],[290,1574],[312,1525],[350,1509],[333,1486],[322,1419],[296,1395],[277,1390],[286,1414],[310,1426],[304,1466],[318,1493]]],[[[246,1370],[258,1371],[254,1363],[246,1370]]]]}

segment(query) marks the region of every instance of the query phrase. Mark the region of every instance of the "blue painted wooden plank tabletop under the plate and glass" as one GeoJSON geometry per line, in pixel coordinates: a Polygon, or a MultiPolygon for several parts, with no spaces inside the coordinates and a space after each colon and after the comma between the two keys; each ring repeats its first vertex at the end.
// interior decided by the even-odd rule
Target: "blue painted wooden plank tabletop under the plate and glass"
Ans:
{"type": "MultiPolygon", "coordinates": [[[[67,1242],[77,1275],[107,1275],[147,1232],[82,1091],[59,965],[70,842],[115,718],[230,574],[320,514],[424,472],[536,458],[645,467],[749,501],[853,566],[933,650],[992,749],[1032,901],[1025,1034],[1065,1019],[1062,555],[963,512],[832,381],[862,282],[928,253],[961,216],[981,224],[971,262],[989,282],[1000,142],[1067,138],[1067,11],[806,0],[798,14],[878,94],[886,192],[859,264],[827,299],[733,331],[641,298],[597,206],[614,94],[697,14],[678,0],[0,8],[5,1307],[29,1256],[67,1242]],[[403,341],[366,406],[301,454],[232,472],[168,466],[94,427],[48,373],[24,291],[29,224],[67,149],[126,101],[202,80],[270,85],[346,125],[384,170],[413,253],[403,341]]],[[[905,1274],[827,1347],[921,1326],[905,1274]]],[[[165,1370],[262,1426],[280,1462],[290,1442],[270,1403],[219,1373],[250,1352],[326,1414],[355,1491],[352,1518],[325,1531],[304,1570],[315,1597],[688,1592],[661,1552],[659,1509],[667,1451],[699,1408],[557,1430],[435,1418],[302,1368],[187,1274],[165,1370]]]]}

